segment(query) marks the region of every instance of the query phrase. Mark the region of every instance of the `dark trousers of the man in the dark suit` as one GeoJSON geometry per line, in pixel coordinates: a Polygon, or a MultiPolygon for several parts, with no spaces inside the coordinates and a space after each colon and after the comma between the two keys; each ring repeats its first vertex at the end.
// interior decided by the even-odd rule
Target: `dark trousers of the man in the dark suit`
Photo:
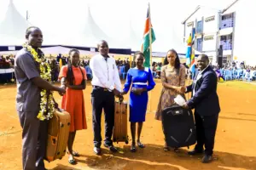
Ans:
{"type": "Polygon", "coordinates": [[[202,151],[205,145],[205,154],[212,156],[215,133],[218,124],[218,114],[201,116],[195,111],[196,139],[195,150],[202,151]]]}

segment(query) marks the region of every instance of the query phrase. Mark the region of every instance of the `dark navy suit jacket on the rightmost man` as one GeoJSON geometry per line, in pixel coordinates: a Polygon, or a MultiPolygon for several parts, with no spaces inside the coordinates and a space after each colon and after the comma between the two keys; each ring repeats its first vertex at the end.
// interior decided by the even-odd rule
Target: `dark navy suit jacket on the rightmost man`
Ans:
{"type": "MultiPolygon", "coordinates": [[[[197,73],[198,75],[198,73],[197,73]]],[[[191,109],[195,108],[195,112],[201,116],[212,116],[218,114],[220,106],[218,102],[217,94],[217,75],[212,70],[211,66],[208,66],[205,71],[202,72],[202,76],[197,80],[195,76],[193,83],[187,87],[187,93],[192,92],[195,87],[194,96],[188,100],[187,104],[191,109]]]]}

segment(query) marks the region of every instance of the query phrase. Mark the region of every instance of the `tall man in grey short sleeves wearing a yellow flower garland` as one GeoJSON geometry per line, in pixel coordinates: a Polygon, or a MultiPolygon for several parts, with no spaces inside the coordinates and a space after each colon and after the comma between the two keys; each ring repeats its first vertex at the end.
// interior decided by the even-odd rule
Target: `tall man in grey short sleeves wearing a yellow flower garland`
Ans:
{"type": "Polygon", "coordinates": [[[15,57],[16,109],[23,129],[23,170],[45,170],[47,122],[54,111],[51,91],[65,94],[64,88],[48,82],[49,65],[39,49],[42,42],[42,31],[38,27],[29,27],[26,30],[26,45],[15,57]]]}

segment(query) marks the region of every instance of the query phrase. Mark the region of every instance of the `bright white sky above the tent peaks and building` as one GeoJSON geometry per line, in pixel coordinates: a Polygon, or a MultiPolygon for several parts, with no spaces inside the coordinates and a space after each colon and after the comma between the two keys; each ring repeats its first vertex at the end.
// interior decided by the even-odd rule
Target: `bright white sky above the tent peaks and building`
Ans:
{"type": "MultiPolygon", "coordinates": [[[[154,27],[157,46],[166,50],[171,39],[183,40],[181,22],[198,5],[211,8],[226,8],[234,0],[13,0],[21,15],[39,26],[44,32],[58,34],[59,37],[72,37],[73,32],[84,26],[84,15],[90,6],[92,17],[102,30],[113,38],[129,37],[131,29],[139,38],[143,28],[148,3],[154,27]],[[157,42],[158,41],[158,42],[157,42]]],[[[3,20],[9,0],[0,0],[0,22],[3,20]]],[[[0,40],[1,41],[1,40],[0,40]]],[[[170,44],[172,46],[172,44],[170,44]]],[[[161,48],[160,48],[161,49],[161,48]]]]}

